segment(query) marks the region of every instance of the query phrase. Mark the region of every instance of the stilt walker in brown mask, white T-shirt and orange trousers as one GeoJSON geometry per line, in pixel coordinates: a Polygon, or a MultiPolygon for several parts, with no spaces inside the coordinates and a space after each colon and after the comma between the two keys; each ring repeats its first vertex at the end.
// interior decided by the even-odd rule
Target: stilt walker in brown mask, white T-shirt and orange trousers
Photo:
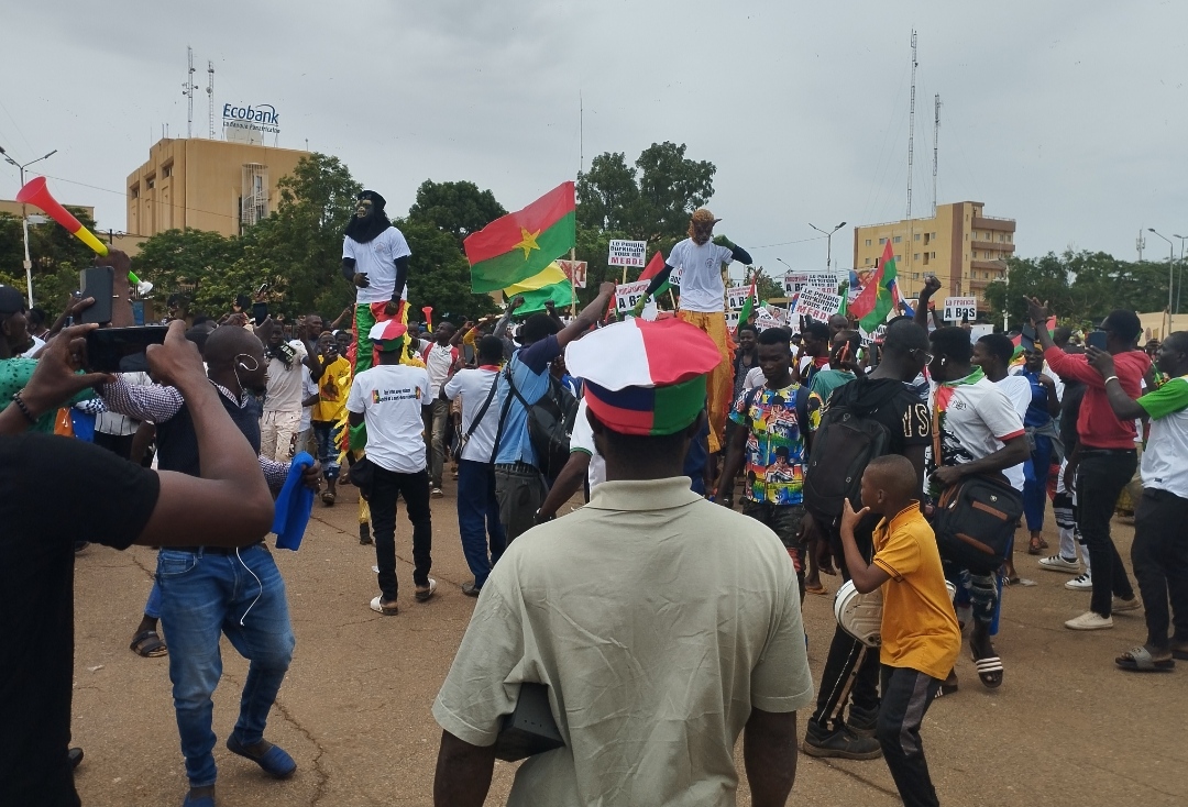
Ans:
{"type": "MultiPolygon", "coordinates": [[[[726,436],[726,413],[731,408],[734,393],[734,341],[726,330],[726,284],[722,281],[722,265],[731,261],[751,263],[745,249],[731,243],[725,236],[714,239],[714,224],[721,218],[704,208],[694,211],[689,220],[689,237],[678,242],[664,261],[664,268],[652,278],[647,293],[637,306],[643,310],[646,300],[663,286],[675,268],[681,275],[681,310],[677,317],[695,325],[714,341],[722,361],[708,382],[709,451],[721,451],[726,436]]],[[[638,316],[638,312],[637,312],[638,316]]]]}

